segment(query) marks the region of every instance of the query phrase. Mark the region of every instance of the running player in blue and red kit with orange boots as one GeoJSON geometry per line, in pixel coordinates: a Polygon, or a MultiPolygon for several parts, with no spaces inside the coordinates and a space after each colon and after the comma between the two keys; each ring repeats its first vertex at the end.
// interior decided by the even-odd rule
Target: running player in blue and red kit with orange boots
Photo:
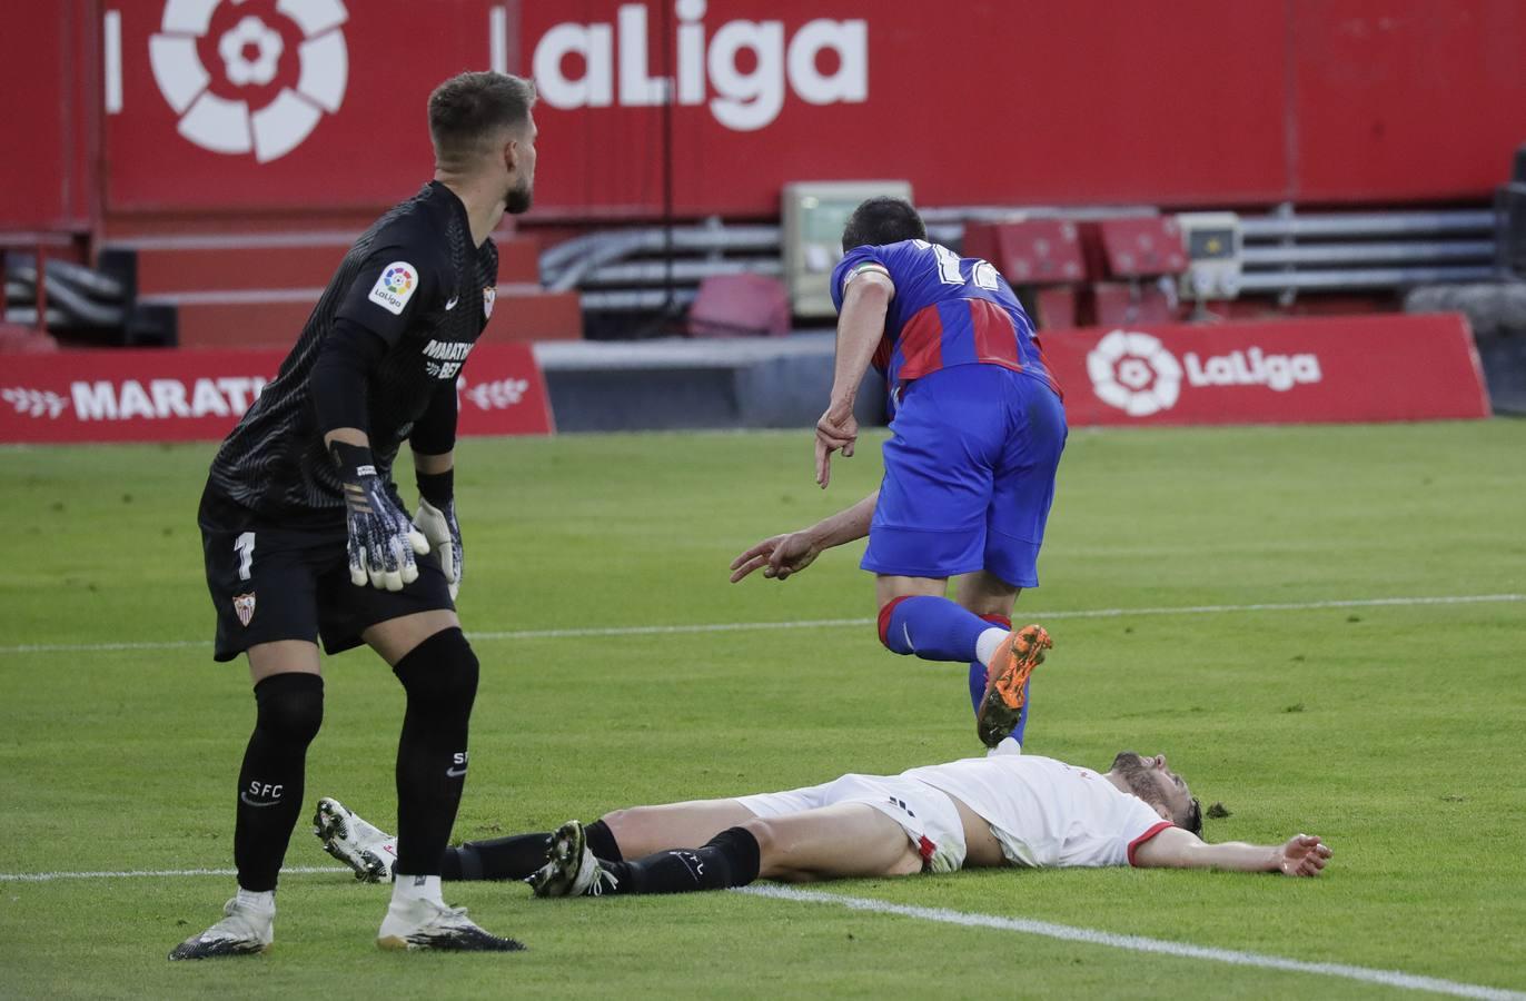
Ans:
{"type": "Polygon", "coordinates": [[[996,269],[928,241],[900,198],[870,198],[842,230],[832,273],[838,354],[816,423],[816,482],[853,455],[853,400],[870,363],[894,406],[881,488],[823,522],[739,555],[732,583],[783,580],[830,546],[868,536],[879,638],[896,653],[969,662],[977,731],[1022,742],[1029,674],[1048,635],[1012,632],[1036,562],[1065,447],[1065,410],[1033,322],[996,269]],[[960,577],[957,601],[948,578],[960,577]]]}

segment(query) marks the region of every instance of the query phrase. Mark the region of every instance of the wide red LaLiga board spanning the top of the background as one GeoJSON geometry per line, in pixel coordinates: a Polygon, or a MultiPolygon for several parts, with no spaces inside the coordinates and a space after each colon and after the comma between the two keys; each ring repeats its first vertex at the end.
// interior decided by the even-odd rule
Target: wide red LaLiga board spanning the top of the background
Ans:
{"type": "MultiPolygon", "coordinates": [[[[668,191],[679,215],[772,217],[787,182],[868,177],[928,206],[1392,203],[1503,180],[1517,8],[70,0],[76,50],[14,31],[0,79],[34,95],[23,145],[101,108],[113,217],[391,204],[433,166],[430,89],[488,67],[540,90],[542,218],[659,215],[668,191]]],[[[37,162],[27,191],[55,183],[37,162]]]]}

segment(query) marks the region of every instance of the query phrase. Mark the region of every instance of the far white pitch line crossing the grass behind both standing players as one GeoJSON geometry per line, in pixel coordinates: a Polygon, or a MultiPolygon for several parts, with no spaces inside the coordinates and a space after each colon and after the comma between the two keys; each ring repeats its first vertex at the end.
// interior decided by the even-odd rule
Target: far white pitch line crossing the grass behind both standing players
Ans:
{"type": "MultiPolygon", "coordinates": [[[[1254,604],[1187,604],[1144,609],[1071,609],[1024,612],[1024,618],[1048,621],[1061,618],[1125,618],[1129,615],[1224,615],[1233,612],[1317,612],[1320,609],[1378,609],[1424,604],[1499,604],[1526,601],[1523,594],[1492,595],[1430,595],[1413,598],[1352,598],[1344,601],[1264,601],[1254,604]]],[[[468,639],[581,639],[589,636],[671,636],[678,633],[736,633],[769,629],[833,629],[870,626],[873,618],[809,618],[784,623],[688,623],[679,626],[606,626],[584,629],[514,629],[507,632],[470,632],[468,639]]],[[[111,650],[183,650],[209,647],[204,639],[160,639],[145,642],[26,642],[0,647],[0,653],[102,653],[111,650]]]]}

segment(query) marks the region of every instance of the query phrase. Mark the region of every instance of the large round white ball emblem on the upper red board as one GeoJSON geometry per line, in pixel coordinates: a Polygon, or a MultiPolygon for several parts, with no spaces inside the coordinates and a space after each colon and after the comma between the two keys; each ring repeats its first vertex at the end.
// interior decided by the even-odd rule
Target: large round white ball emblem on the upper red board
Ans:
{"type": "Polygon", "coordinates": [[[212,153],[253,153],[259,163],[296,150],[324,111],[337,111],[345,99],[349,50],[339,26],[348,17],[342,0],[168,0],[148,60],[180,116],[177,131],[212,153]],[[238,17],[233,8],[247,9],[238,17]],[[214,23],[220,66],[209,72],[198,49],[214,23]],[[293,26],[301,37],[295,69],[287,46],[293,26]],[[281,84],[282,70],[295,85],[281,84]],[[273,98],[259,95],[276,85],[273,98]]]}

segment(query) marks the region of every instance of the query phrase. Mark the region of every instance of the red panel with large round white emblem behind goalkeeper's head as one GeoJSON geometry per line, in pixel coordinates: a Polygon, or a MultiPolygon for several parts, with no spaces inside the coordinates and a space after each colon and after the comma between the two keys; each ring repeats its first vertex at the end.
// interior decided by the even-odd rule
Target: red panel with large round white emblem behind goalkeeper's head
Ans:
{"type": "Polygon", "coordinates": [[[424,107],[490,63],[488,0],[104,0],[113,212],[392,204],[433,175],[424,107]],[[110,52],[110,50],[108,50],[110,52]]]}

